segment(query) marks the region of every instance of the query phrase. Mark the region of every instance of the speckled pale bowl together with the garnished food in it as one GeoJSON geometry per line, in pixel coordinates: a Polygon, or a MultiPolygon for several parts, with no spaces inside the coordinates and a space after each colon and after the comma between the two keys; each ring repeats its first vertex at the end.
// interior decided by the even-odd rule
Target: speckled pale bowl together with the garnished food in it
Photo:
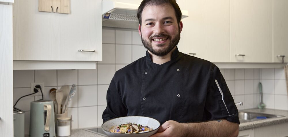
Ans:
{"type": "Polygon", "coordinates": [[[111,137],[149,137],[159,128],[158,120],[143,116],[114,118],[102,124],[105,134],[111,137]]]}

